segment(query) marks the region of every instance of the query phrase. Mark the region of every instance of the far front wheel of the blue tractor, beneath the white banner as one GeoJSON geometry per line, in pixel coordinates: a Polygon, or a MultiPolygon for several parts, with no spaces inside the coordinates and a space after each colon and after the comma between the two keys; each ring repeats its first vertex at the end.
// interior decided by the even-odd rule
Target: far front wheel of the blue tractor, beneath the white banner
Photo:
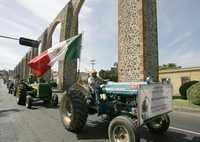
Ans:
{"type": "Polygon", "coordinates": [[[149,131],[155,134],[165,133],[170,125],[170,118],[168,114],[162,115],[156,119],[153,119],[147,124],[149,131]]]}

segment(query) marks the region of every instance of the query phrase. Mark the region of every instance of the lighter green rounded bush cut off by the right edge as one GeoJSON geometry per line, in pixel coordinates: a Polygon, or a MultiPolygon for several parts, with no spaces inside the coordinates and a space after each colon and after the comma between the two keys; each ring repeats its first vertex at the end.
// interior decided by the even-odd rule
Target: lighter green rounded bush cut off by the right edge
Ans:
{"type": "Polygon", "coordinates": [[[200,82],[188,89],[188,99],[195,105],[200,105],[200,82]]]}

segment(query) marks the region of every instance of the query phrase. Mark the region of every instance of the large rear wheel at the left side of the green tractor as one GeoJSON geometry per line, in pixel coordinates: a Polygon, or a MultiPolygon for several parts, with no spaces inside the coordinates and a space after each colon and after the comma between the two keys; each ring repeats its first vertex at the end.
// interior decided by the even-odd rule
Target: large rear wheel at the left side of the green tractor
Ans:
{"type": "Polygon", "coordinates": [[[17,87],[17,104],[25,105],[25,102],[26,102],[26,92],[21,86],[19,86],[17,87]]]}

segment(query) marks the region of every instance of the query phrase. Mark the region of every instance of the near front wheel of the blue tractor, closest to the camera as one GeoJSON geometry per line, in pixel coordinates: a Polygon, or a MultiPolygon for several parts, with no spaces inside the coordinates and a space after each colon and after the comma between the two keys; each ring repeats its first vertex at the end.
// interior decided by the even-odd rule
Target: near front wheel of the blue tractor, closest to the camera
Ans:
{"type": "Polygon", "coordinates": [[[114,118],[108,128],[110,142],[139,142],[137,121],[127,116],[114,118]]]}

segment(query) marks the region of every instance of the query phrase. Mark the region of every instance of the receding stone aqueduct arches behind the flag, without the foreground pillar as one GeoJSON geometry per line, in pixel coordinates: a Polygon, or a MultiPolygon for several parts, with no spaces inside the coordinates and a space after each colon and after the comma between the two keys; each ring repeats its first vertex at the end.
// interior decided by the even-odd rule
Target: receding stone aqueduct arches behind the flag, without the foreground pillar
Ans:
{"type": "MultiPolygon", "coordinates": [[[[27,65],[28,61],[37,56],[42,51],[48,49],[52,45],[52,34],[56,26],[61,23],[60,41],[66,40],[71,36],[78,34],[78,15],[85,0],[70,0],[68,4],[61,10],[54,21],[38,38],[41,41],[39,49],[30,49],[22,58],[14,69],[15,76],[20,79],[27,79],[30,69],[27,65]]],[[[68,88],[76,79],[77,61],[59,62],[59,88],[68,88]]],[[[50,72],[44,75],[45,79],[49,79],[50,72]]]]}

